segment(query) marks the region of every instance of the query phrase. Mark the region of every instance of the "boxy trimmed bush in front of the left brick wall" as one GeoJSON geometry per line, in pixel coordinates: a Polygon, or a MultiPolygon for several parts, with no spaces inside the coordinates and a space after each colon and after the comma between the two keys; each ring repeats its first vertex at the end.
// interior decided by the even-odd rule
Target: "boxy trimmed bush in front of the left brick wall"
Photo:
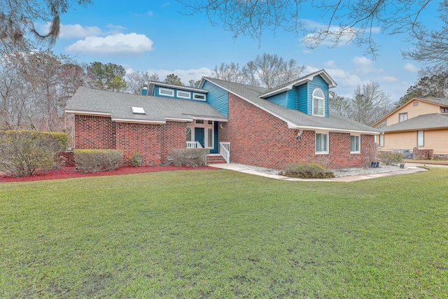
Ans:
{"type": "Polygon", "coordinates": [[[103,172],[121,166],[123,151],[113,149],[75,149],[75,167],[78,172],[103,172]]]}

